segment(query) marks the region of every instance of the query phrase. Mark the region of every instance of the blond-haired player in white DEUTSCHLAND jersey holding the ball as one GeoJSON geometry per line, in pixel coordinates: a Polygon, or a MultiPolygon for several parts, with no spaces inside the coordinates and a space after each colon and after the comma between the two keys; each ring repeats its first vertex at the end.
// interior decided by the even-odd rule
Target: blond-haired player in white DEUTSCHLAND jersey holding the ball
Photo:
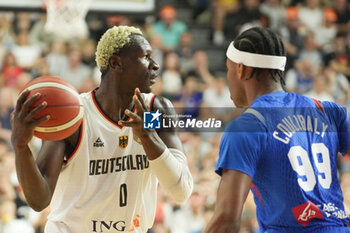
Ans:
{"type": "Polygon", "coordinates": [[[19,97],[12,117],[17,175],[33,209],[51,203],[46,233],[147,232],[158,181],[177,203],[189,197],[193,181],[176,132],[142,128],[144,111],[172,109],[151,94],[159,69],[151,55],[139,29],[107,30],[96,52],[101,84],[80,95],[82,125],[67,139],[44,141],[36,161],[27,144],[49,119],[34,119],[47,103],[31,110],[39,96],[19,97]]]}

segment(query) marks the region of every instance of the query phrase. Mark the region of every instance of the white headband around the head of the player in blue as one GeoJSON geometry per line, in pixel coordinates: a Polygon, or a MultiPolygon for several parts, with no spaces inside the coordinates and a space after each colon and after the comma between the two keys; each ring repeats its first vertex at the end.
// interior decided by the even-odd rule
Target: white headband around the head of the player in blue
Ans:
{"type": "Polygon", "coordinates": [[[231,42],[230,46],[227,48],[226,56],[231,61],[242,63],[245,66],[277,69],[280,71],[284,71],[287,61],[285,56],[272,56],[240,51],[233,46],[233,42],[231,42]]]}

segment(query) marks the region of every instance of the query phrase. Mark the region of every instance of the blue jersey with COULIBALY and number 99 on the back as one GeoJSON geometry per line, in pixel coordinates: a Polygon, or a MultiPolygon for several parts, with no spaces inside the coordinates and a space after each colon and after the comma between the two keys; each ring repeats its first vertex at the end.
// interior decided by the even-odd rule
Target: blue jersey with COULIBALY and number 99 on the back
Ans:
{"type": "Polygon", "coordinates": [[[336,167],[347,129],[347,112],[335,103],[263,95],[226,128],[216,172],[252,178],[261,232],[350,232],[336,167]]]}

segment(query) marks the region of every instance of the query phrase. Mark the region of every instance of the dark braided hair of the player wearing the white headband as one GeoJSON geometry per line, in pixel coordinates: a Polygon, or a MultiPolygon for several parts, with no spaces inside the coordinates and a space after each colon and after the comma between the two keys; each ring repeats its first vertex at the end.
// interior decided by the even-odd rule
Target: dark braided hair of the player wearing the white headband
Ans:
{"type": "MultiPolygon", "coordinates": [[[[234,40],[234,47],[249,53],[286,56],[281,38],[270,29],[261,27],[250,28],[238,35],[234,40]]],[[[269,70],[272,79],[278,82],[279,78],[282,87],[285,86],[284,72],[277,69],[253,68],[249,78],[262,70],[269,70]]]]}

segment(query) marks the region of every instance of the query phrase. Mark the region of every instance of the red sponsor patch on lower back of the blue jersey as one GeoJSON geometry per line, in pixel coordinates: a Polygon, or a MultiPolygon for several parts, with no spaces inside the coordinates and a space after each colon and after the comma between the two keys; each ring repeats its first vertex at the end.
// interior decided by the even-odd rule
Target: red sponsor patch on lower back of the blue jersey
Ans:
{"type": "Polygon", "coordinates": [[[304,227],[314,218],[323,219],[321,210],[311,201],[292,208],[292,212],[298,223],[304,227]]]}

